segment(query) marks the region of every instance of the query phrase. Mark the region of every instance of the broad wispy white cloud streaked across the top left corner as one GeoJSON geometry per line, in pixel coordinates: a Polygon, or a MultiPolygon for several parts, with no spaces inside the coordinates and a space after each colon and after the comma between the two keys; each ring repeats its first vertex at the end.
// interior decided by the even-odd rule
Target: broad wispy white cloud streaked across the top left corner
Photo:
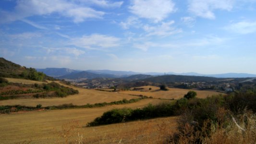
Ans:
{"type": "Polygon", "coordinates": [[[105,14],[105,12],[96,11],[86,6],[82,7],[67,0],[19,0],[13,12],[0,12],[0,23],[54,12],[73,18],[75,23],[83,22],[87,18],[101,18],[105,14]]]}

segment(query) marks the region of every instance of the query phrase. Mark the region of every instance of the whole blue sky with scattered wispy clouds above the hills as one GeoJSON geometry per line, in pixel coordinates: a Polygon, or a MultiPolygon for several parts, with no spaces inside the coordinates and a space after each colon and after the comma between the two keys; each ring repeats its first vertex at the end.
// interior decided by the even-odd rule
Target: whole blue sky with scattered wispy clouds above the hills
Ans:
{"type": "Polygon", "coordinates": [[[33,68],[256,74],[256,0],[0,0],[0,57],[33,68]]]}

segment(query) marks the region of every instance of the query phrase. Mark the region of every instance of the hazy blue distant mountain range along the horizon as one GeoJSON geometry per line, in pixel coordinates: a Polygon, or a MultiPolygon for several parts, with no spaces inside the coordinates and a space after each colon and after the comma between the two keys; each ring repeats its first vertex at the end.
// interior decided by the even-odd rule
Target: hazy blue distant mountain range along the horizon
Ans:
{"type": "Polygon", "coordinates": [[[132,71],[110,71],[110,70],[71,70],[67,68],[46,68],[37,69],[38,72],[44,72],[45,74],[61,78],[61,79],[78,79],[78,78],[118,78],[127,77],[136,74],[145,75],[186,75],[186,76],[206,76],[206,77],[216,77],[216,78],[245,78],[245,77],[256,77],[256,74],[248,73],[222,73],[222,74],[200,74],[196,72],[187,73],[175,73],[175,72],[132,72],[132,71]],[[81,72],[81,73],[80,73],[81,72]],[[89,72],[89,73],[88,73],[89,72]],[[78,73],[78,74],[75,74],[78,73]],[[71,75],[69,75],[71,74],[71,75]]]}

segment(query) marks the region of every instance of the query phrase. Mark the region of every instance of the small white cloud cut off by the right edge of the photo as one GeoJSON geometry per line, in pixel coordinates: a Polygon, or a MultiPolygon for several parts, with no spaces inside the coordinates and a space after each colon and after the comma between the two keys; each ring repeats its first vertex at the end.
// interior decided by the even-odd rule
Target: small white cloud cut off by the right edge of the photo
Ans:
{"type": "Polygon", "coordinates": [[[256,22],[238,22],[224,27],[224,29],[238,34],[250,34],[256,32],[256,22]]]}

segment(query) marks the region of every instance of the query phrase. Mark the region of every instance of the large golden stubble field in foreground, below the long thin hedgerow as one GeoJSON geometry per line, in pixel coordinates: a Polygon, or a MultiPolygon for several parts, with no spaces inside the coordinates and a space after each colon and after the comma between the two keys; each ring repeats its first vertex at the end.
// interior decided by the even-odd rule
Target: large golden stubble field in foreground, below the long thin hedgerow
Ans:
{"type": "MultiPolygon", "coordinates": [[[[146,129],[146,127],[148,129],[156,129],[154,125],[159,124],[159,122],[155,122],[155,124],[152,124],[152,126],[150,122],[147,124],[148,126],[142,124],[145,123],[145,121],[140,121],[137,125],[134,125],[134,122],[132,122],[124,125],[117,124],[92,128],[82,128],[82,126],[85,126],[87,122],[94,120],[96,117],[101,116],[103,112],[112,108],[138,108],[144,107],[148,103],[157,104],[163,101],[164,100],[158,99],[143,99],[137,103],[108,106],[103,108],[63,109],[50,111],[32,111],[15,114],[1,114],[0,140],[3,144],[21,143],[25,141],[31,141],[33,144],[53,144],[56,143],[57,140],[60,140],[61,143],[63,143],[64,139],[61,139],[56,131],[61,132],[61,126],[69,123],[71,120],[75,120],[80,124],[80,126],[77,127],[77,129],[79,129],[80,135],[83,134],[84,139],[88,142],[108,143],[107,140],[120,140],[119,138],[122,138],[122,141],[125,140],[129,142],[128,140],[130,137],[137,137],[136,139],[139,141],[139,138],[145,137],[134,135],[134,131],[136,131],[138,134],[143,132],[143,129],[146,129]],[[53,128],[55,128],[55,130],[53,128]],[[120,136],[116,135],[117,132],[121,132],[120,136]],[[111,138],[109,136],[111,136],[111,138]]],[[[175,123],[174,119],[173,123],[175,123]]],[[[150,131],[145,130],[145,132],[150,131]]],[[[77,134],[75,134],[75,136],[77,136],[77,134]]],[[[150,134],[154,135],[154,133],[150,134]]]]}

